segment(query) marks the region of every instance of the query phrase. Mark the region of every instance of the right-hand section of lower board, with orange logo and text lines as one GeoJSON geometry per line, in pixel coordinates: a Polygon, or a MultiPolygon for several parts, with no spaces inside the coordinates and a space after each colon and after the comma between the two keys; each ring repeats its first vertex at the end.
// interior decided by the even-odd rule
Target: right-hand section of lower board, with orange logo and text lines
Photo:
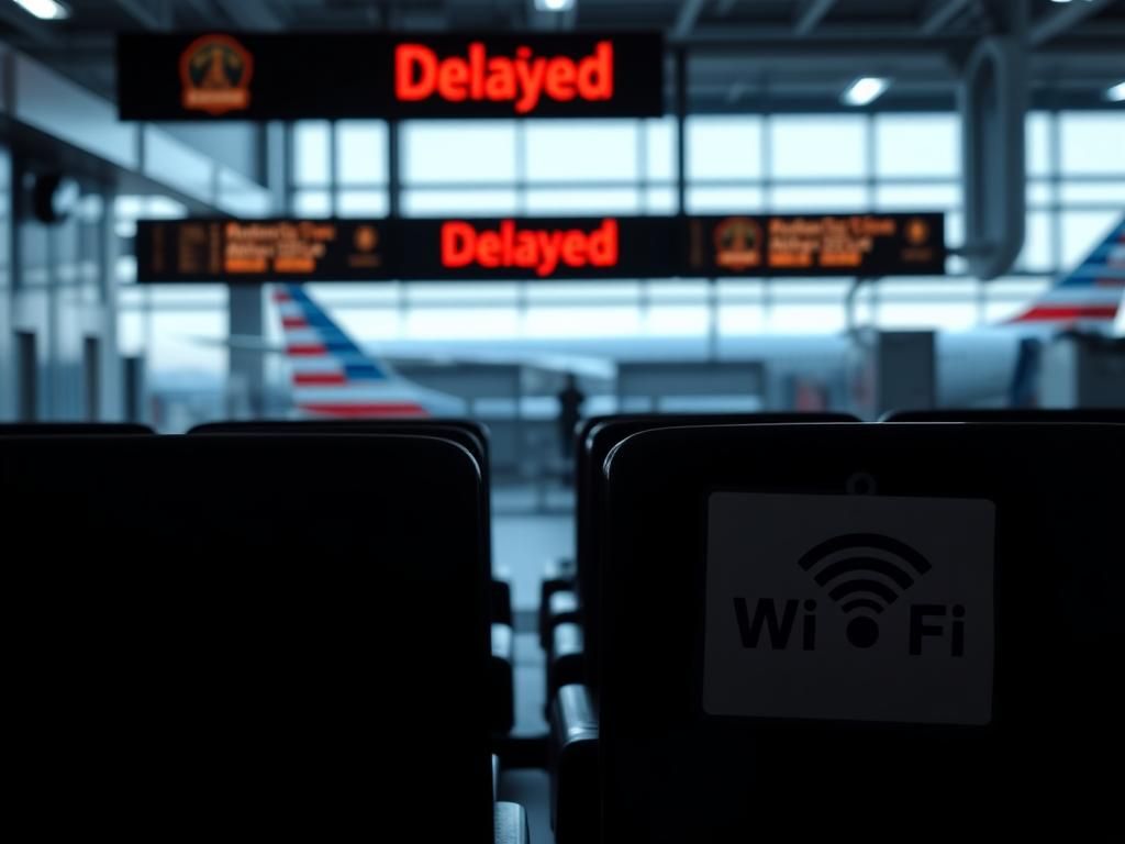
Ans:
{"type": "Polygon", "coordinates": [[[732,215],[687,222],[688,276],[940,276],[942,214],[732,215]]]}

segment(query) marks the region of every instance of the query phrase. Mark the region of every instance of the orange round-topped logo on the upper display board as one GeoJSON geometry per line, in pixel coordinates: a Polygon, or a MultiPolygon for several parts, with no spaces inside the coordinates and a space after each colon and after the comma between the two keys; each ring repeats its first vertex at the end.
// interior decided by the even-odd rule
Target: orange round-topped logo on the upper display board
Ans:
{"type": "Polygon", "coordinates": [[[205,35],[180,55],[183,107],[189,111],[222,115],[250,107],[254,60],[230,35],[205,35]]]}

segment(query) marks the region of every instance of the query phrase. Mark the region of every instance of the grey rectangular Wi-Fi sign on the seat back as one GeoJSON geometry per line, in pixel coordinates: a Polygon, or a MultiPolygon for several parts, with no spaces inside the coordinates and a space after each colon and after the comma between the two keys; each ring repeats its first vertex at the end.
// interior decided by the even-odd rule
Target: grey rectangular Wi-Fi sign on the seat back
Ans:
{"type": "Polygon", "coordinates": [[[716,493],[703,709],[987,725],[992,502],[716,493]]]}

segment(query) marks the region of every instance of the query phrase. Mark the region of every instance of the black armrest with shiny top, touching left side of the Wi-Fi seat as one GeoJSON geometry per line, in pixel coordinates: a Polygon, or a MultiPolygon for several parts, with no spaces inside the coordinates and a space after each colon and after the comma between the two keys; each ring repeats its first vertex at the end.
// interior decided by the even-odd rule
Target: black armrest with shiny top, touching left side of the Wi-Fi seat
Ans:
{"type": "Polygon", "coordinates": [[[551,706],[551,827],[557,844],[598,841],[597,717],[590,690],[564,685],[551,706]]]}

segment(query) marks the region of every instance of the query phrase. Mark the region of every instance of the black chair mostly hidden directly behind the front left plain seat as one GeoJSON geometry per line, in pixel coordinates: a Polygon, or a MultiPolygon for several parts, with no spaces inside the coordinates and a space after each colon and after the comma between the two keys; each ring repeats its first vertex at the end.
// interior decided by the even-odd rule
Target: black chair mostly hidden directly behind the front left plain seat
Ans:
{"type": "MultiPolygon", "coordinates": [[[[476,459],[482,475],[482,541],[485,558],[492,569],[492,502],[489,494],[490,456],[488,429],[465,419],[370,419],[370,420],[248,420],[208,422],[196,425],[189,434],[216,433],[352,433],[405,434],[438,437],[465,448],[476,459]]],[[[493,706],[494,729],[506,734],[515,722],[514,637],[512,634],[511,586],[507,581],[493,575],[489,607],[493,619],[493,706]]]]}

